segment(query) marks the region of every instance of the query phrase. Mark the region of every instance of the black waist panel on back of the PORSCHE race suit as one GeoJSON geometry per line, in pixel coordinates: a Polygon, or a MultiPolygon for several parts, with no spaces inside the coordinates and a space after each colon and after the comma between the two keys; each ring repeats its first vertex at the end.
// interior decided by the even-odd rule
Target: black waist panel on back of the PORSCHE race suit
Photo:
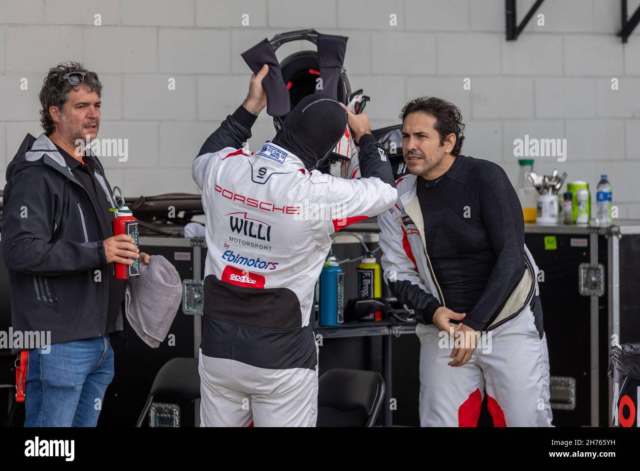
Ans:
{"type": "Polygon", "coordinates": [[[287,288],[244,288],[209,275],[202,313],[205,356],[272,370],[316,369],[314,333],[300,327],[300,302],[287,288]]]}

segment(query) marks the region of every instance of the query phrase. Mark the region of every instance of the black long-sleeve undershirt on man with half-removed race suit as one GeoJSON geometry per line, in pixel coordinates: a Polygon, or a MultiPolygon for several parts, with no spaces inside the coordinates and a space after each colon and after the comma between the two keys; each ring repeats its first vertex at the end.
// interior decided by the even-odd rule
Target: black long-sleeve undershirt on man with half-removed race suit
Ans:
{"type": "Polygon", "coordinates": [[[499,165],[458,155],[419,178],[427,253],[447,307],[477,331],[498,313],[525,268],[520,202],[499,165]]]}

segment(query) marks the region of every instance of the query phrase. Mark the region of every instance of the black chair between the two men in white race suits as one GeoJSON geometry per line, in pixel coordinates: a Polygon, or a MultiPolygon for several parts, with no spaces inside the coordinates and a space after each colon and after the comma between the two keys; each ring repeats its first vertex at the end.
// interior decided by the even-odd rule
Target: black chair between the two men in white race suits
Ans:
{"type": "Polygon", "coordinates": [[[385,396],[374,371],[328,370],[318,381],[318,427],[373,427],[385,396]]]}

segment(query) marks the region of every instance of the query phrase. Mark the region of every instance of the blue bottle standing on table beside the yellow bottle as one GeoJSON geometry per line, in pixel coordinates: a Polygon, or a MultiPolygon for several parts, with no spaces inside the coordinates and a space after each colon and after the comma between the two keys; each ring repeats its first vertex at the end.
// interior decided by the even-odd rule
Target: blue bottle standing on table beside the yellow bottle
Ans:
{"type": "Polygon", "coordinates": [[[330,256],[320,273],[320,325],[339,326],[344,322],[344,273],[330,256]]]}

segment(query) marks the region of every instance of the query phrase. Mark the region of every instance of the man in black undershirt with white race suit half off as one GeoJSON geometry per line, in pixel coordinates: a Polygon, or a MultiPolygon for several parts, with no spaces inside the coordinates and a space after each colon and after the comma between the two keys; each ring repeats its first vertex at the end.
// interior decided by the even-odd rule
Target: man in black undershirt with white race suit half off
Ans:
{"type": "Polygon", "coordinates": [[[486,399],[494,426],[550,426],[547,340],[515,190],[499,165],[460,154],[453,104],[418,98],[401,118],[410,175],[378,223],[385,279],[419,322],[420,425],[477,426],[486,399]]]}

